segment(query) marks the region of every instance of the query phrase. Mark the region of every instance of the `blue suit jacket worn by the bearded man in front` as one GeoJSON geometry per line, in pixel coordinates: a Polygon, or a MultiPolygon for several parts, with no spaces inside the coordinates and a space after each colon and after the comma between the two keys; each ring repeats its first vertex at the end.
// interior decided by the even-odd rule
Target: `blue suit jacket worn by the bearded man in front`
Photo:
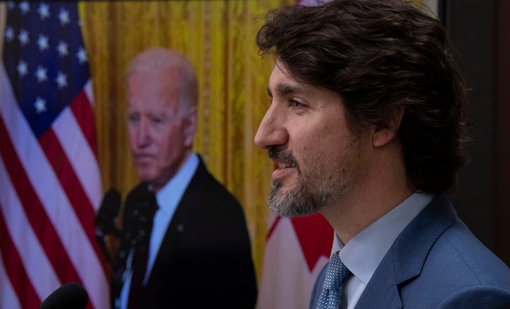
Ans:
{"type": "MultiPolygon", "coordinates": [[[[310,308],[317,307],[324,269],[310,308]]],[[[510,269],[472,235],[440,194],[397,237],[358,308],[510,308],[510,269]]]]}

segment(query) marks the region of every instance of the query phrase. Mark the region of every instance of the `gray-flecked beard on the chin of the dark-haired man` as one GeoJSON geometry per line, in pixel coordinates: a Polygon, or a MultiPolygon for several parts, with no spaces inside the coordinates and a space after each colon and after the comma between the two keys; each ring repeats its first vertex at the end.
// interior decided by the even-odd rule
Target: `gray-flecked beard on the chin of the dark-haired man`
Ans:
{"type": "Polygon", "coordinates": [[[308,184],[314,184],[314,186],[310,188],[300,180],[287,193],[278,193],[281,181],[273,180],[268,196],[269,209],[282,217],[297,217],[312,215],[329,206],[334,196],[333,192],[324,191],[323,189],[327,186],[320,186],[314,181],[308,181],[308,184]]]}

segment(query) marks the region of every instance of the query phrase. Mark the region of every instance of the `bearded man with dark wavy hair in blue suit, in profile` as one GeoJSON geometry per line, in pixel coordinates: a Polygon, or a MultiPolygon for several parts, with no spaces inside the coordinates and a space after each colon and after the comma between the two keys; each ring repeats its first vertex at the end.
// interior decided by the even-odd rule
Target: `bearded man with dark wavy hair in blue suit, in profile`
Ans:
{"type": "Polygon", "coordinates": [[[333,0],[268,12],[256,43],[276,60],[255,136],[268,206],[335,230],[310,308],[510,308],[508,266],[447,196],[469,138],[441,23],[406,1],[333,0]]]}

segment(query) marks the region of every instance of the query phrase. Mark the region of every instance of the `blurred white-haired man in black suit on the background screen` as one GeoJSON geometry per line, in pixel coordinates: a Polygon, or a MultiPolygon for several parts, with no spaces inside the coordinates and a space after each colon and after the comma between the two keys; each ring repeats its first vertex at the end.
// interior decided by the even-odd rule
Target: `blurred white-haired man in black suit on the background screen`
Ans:
{"type": "Polygon", "coordinates": [[[193,152],[198,85],[188,60],[150,48],[128,67],[128,135],[142,182],[125,199],[115,308],[254,308],[244,212],[193,152]]]}

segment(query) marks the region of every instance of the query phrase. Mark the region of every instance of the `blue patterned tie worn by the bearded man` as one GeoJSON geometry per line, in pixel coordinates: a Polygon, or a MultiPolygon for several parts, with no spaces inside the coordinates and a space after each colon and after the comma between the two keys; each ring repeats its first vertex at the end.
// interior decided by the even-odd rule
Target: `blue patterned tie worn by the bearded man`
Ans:
{"type": "Polygon", "coordinates": [[[335,252],[326,269],[326,279],[322,284],[322,292],[317,304],[318,309],[338,309],[340,300],[340,286],[344,283],[350,271],[341,262],[339,252],[335,252]]]}

